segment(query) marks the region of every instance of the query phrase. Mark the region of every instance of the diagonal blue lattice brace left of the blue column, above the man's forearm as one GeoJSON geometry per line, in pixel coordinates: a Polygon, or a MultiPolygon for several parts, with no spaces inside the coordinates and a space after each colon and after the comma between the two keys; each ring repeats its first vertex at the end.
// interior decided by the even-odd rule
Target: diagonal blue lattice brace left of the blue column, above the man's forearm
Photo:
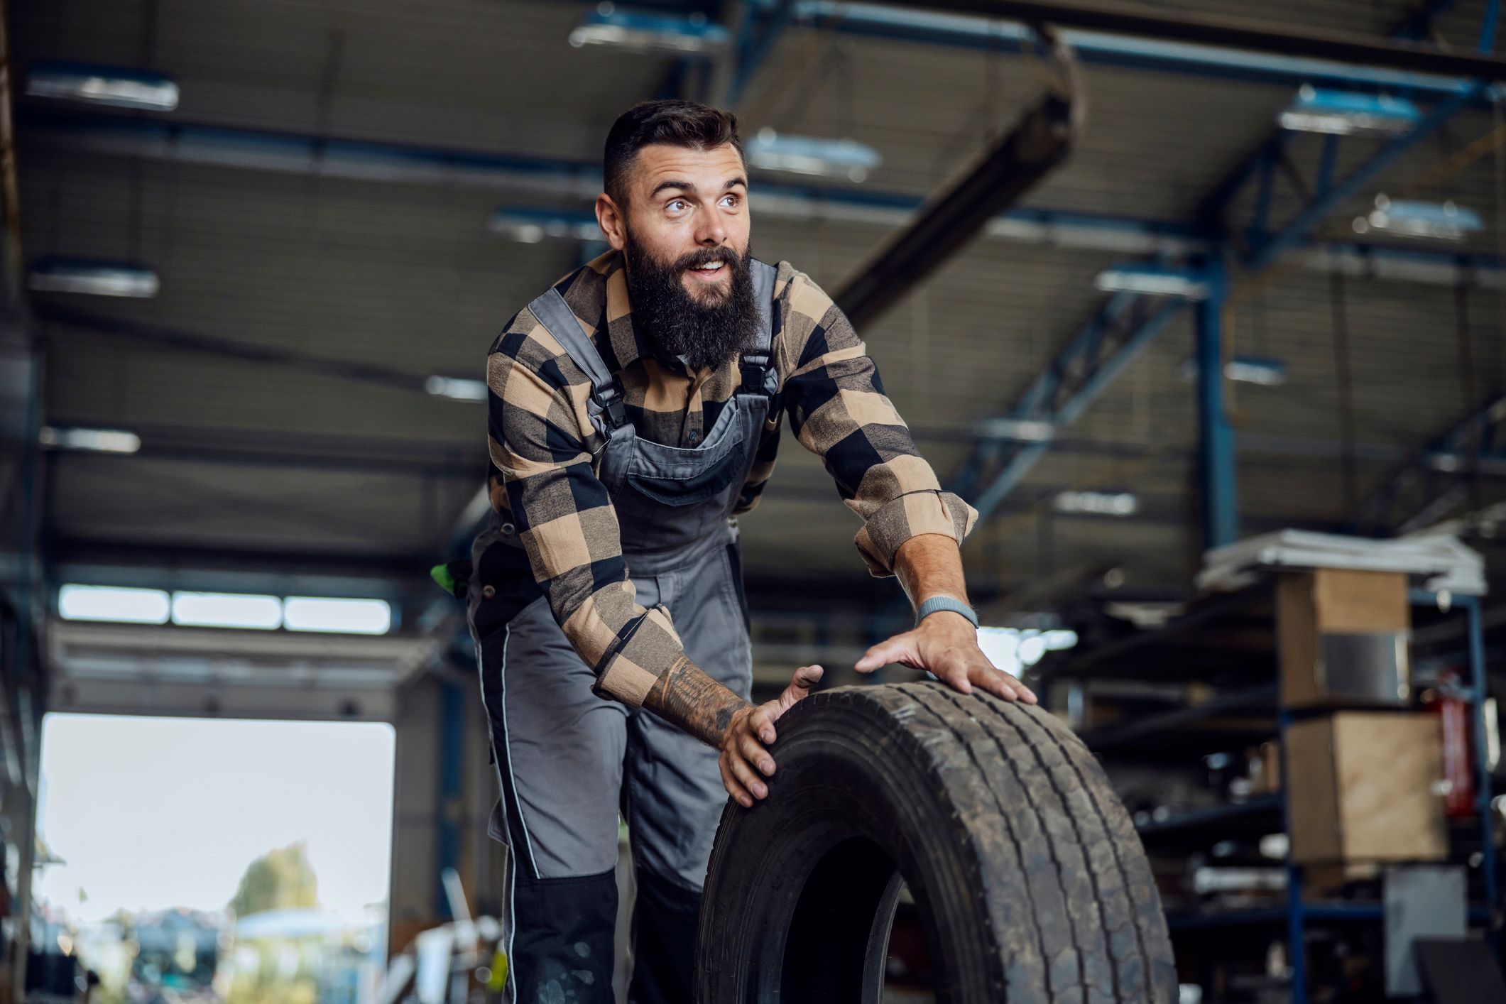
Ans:
{"type": "MultiPolygon", "coordinates": [[[[1160,303],[1140,294],[1113,294],[1026,388],[1008,417],[1056,429],[1072,424],[1184,306],[1181,298],[1160,303]]],[[[1050,446],[1050,440],[1021,443],[985,437],[953,479],[953,491],[964,497],[976,492],[973,506],[980,519],[988,518],[1050,446]]]]}

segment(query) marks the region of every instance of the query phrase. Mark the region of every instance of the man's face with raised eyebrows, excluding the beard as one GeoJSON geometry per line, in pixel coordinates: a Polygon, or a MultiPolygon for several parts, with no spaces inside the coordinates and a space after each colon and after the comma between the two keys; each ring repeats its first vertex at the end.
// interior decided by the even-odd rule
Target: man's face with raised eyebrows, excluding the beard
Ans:
{"type": "MultiPolygon", "coordinates": [[[[633,163],[623,227],[633,232],[634,248],[676,271],[693,303],[715,306],[732,292],[730,262],[747,253],[747,170],[732,146],[645,146],[633,163]],[[696,268],[703,263],[711,268],[696,268]]],[[[626,239],[611,242],[626,245],[626,239]]]]}

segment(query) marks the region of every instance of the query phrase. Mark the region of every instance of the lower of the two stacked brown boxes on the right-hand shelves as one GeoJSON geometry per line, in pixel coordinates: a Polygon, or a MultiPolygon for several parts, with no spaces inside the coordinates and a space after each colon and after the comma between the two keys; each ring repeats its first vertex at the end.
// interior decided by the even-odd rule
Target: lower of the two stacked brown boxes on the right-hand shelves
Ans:
{"type": "Polygon", "coordinates": [[[1441,861],[1438,718],[1339,712],[1286,729],[1292,861],[1441,861]]]}

